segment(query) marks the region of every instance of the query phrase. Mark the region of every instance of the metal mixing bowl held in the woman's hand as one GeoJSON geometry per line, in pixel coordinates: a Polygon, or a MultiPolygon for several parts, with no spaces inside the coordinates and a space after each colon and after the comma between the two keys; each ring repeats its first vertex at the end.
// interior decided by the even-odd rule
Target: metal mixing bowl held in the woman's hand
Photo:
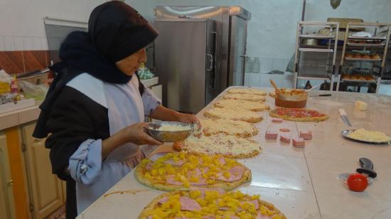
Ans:
{"type": "Polygon", "coordinates": [[[154,139],[158,141],[163,142],[176,142],[176,141],[183,141],[184,139],[187,139],[191,133],[193,133],[193,130],[195,129],[193,124],[187,124],[183,122],[149,122],[148,127],[146,127],[146,132],[151,136],[154,137],[154,139]],[[159,127],[163,125],[177,125],[182,127],[189,127],[189,129],[183,130],[183,131],[159,131],[159,127]]]}

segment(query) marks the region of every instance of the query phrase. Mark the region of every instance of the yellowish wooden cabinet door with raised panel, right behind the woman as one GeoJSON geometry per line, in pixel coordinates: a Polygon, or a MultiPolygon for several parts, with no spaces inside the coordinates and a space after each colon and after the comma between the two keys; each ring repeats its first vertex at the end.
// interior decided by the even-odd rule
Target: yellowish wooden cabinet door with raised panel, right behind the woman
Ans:
{"type": "Polygon", "coordinates": [[[46,218],[57,210],[63,201],[62,183],[52,174],[49,150],[45,139],[32,137],[35,123],[22,127],[23,144],[26,146],[28,184],[34,218],[46,218]]]}

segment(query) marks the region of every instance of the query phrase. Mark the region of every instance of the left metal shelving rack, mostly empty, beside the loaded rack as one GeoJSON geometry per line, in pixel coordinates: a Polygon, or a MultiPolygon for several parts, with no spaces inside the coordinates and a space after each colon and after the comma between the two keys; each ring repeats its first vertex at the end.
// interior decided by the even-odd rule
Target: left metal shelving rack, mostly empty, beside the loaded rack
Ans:
{"type": "Polygon", "coordinates": [[[336,52],[338,42],[338,22],[314,22],[314,21],[301,21],[297,23],[297,33],[296,33],[296,50],[294,56],[294,88],[296,89],[297,81],[299,79],[309,79],[309,80],[331,80],[330,90],[333,90],[333,75],[336,71],[336,52]],[[313,28],[330,28],[330,34],[304,34],[305,27],[313,28]],[[336,33],[333,34],[333,30],[336,30],[336,33]],[[302,44],[302,40],[305,38],[313,39],[326,39],[328,40],[328,46],[306,46],[302,44]],[[325,74],[304,74],[301,73],[301,67],[311,66],[311,65],[301,65],[300,57],[301,53],[326,53],[327,60],[325,65],[312,65],[316,67],[325,67],[325,74]],[[330,56],[332,54],[331,63],[330,56]]]}

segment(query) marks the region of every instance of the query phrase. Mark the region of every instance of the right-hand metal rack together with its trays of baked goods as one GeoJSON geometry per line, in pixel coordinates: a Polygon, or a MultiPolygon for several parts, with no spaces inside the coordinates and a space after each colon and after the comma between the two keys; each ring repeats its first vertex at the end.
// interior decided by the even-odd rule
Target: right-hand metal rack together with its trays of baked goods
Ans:
{"type": "Polygon", "coordinates": [[[344,85],[358,87],[358,91],[360,87],[376,85],[375,93],[379,92],[390,41],[390,27],[391,23],[348,23],[338,70],[337,90],[343,82],[344,85]],[[353,36],[349,34],[352,28],[365,28],[367,32],[372,31],[373,36],[353,36]],[[386,34],[377,34],[380,30],[386,34]]]}

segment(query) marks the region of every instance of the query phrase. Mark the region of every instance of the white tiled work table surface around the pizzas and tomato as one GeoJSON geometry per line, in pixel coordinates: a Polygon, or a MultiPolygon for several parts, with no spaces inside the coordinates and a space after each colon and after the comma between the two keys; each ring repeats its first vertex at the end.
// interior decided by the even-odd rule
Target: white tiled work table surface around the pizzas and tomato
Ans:
{"type": "MultiPolygon", "coordinates": [[[[314,91],[310,95],[318,93],[314,91]]],[[[240,160],[252,170],[252,182],[238,189],[260,194],[287,218],[391,218],[391,146],[343,139],[341,131],[348,127],[338,113],[338,108],[344,108],[355,129],[365,127],[391,135],[391,97],[331,93],[331,97],[309,97],[307,103],[307,107],[330,116],[324,122],[273,124],[268,112],[261,112],[264,120],[256,124],[259,134],[254,139],[260,142],[263,151],[255,158],[240,160]],[[355,100],[367,102],[368,110],[355,111],[355,100]],[[266,130],[277,131],[281,127],[291,129],[291,137],[297,137],[299,131],[311,130],[313,139],[306,141],[304,149],[264,139],[266,130]],[[354,172],[360,157],[373,161],[377,178],[363,193],[356,193],[349,191],[336,176],[354,172]]],[[[267,96],[267,104],[274,108],[272,97],[267,96]]],[[[200,117],[202,114],[203,111],[200,117]]],[[[158,150],[170,148],[166,145],[158,150]]],[[[108,193],[112,194],[102,196],[77,218],[137,218],[144,206],[163,192],[142,186],[132,171],[108,193]],[[124,193],[115,193],[118,191],[124,193]]]]}

